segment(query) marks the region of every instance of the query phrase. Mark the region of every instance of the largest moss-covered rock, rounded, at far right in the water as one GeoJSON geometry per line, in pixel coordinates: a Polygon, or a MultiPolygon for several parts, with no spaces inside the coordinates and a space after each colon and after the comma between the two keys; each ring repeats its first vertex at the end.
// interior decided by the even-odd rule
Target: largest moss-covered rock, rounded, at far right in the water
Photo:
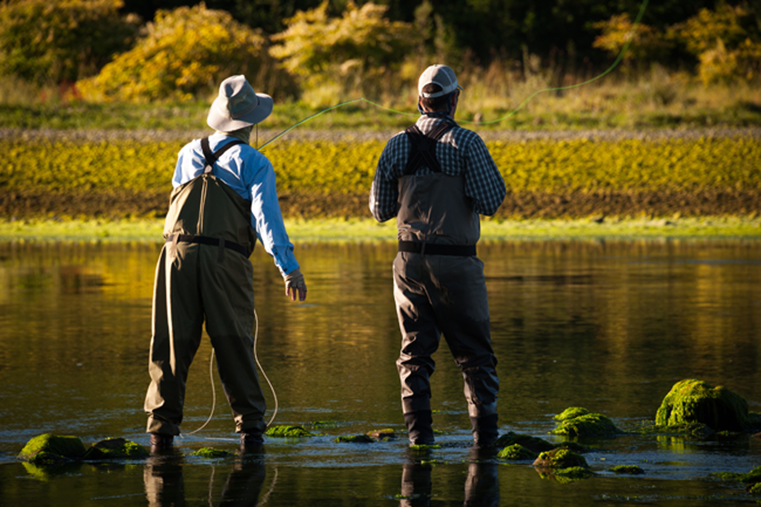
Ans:
{"type": "Polygon", "coordinates": [[[695,379],[674,384],[655,414],[658,426],[700,422],[717,432],[745,431],[753,420],[745,398],[726,387],[695,379]]]}

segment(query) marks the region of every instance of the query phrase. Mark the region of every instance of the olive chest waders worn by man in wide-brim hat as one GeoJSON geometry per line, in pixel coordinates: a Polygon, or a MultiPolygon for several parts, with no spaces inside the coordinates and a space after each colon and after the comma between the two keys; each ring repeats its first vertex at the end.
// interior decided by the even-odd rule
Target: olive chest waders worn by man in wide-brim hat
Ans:
{"type": "Polygon", "coordinates": [[[185,383],[201,342],[212,340],[236,431],[266,429],[264,395],[253,359],[253,267],[256,233],[250,202],[212,174],[214,154],[202,140],[204,174],[174,189],[164,226],[167,243],[156,266],[153,336],[145,395],[148,432],[179,435],[185,383]]]}

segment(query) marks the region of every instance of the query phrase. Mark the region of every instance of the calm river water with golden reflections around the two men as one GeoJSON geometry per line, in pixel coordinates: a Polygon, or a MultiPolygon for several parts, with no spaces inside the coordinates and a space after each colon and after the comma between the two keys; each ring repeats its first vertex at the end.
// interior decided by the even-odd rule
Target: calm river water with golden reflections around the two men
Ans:
{"type": "MultiPolygon", "coordinates": [[[[190,371],[183,456],[40,469],[17,461],[29,438],[110,436],[148,445],[151,292],[159,245],[0,244],[2,505],[750,505],[720,471],[761,465],[761,439],[622,435],[581,443],[595,477],[562,483],[530,462],[476,454],[462,380],[446,343],[433,408],[441,448],[406,438],[336,443],[372,429],[403,432],[394,361],[393,244],[300,244],[309,300],[291,303],[260,247],[252,256],[257,352],[279,398],[275,424],[320,436],[266,438],[237,450],[205,340],[190,371]],[[331,424],[316,429],[314,422],[331,424]],[[641,476],[619,476],[636,464],[641,476]],[[408,498],[402,498],[406,496],[408,498]]],[[[533,241],[479,245],[501,381],[500,431],[548,435],[552,416],[586,407],[627,428],[652,421],[684,378],[721,384],[761,412],[761,241],[533,241]]],[[[266,390],[266,388],[265,388],[266,390]]],[[[269,392],[267,393],[269,396],[269,392]]],[[[271,413],[274,403],[269,403],[271,413]]],[[[406,435],[404,435],[406,436],[406,435]]]]}

